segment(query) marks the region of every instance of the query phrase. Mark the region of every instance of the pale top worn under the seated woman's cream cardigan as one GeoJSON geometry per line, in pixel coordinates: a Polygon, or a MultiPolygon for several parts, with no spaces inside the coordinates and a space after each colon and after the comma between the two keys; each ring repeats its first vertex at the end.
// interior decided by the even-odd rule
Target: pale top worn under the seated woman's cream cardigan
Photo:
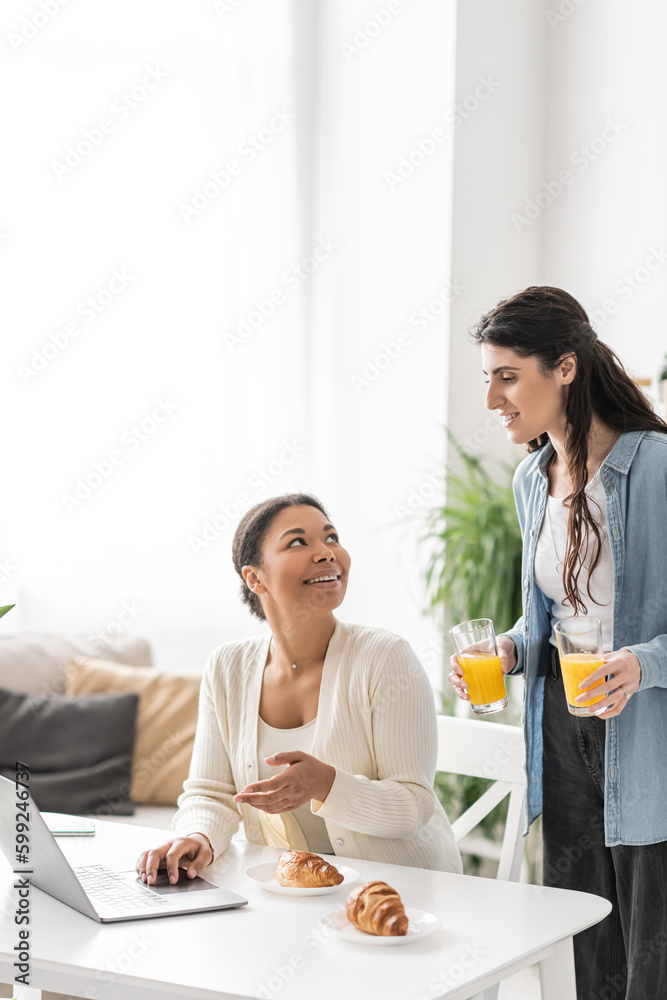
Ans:
{"type": "MultiPolygon", "coordinates": [[[[307,722],[305,726],[298,726],[296,729],[276,729],[259,716],[257,720],[257,765],[259,767],[259,780],[266,781],[267,778],[274,778],[285,770],[287,764],[281,767],[272,767],[264,760],[274,753],[281,753],[287,750],[300,750],[302,753],[313,752],[313,736],[315,735],[315,722],[307,722]]],[[[317,816],[310,808],[310,802],[304,803],[298,809],[289,813],[281,813],[280,818],[285,821],[286,834],[289,846],[295,850],[314,851],[315,854],[333,854],[333,847],[327,833],[327,825],[321,816],[317,816]],[[293,824],[296,824],[297,831],[303,834],[306,846],[292,837],[293,824]]]]}

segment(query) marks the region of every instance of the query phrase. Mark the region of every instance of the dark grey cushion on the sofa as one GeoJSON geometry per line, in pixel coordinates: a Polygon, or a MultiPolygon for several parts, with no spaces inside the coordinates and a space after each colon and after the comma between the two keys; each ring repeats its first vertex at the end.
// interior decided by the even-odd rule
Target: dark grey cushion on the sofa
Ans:
{"type": "Polygon", "coordinates": [[[30,792],[50,812],[131,815],[135,694],[16,694],[0,689],[0,773],[30,768],[30,792]]]}

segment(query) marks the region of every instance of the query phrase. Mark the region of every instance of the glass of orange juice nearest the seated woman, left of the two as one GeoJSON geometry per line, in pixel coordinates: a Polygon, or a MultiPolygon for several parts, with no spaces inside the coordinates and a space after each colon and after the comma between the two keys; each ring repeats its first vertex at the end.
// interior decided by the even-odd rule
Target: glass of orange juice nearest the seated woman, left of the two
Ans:
{"type": "Polygon", "coordinates": [[[450,628],[449,634],[475,715],[490,715],[507,708],[505,677],[500,668],[491,619],[474,618],[461,622],[450,628]]]}

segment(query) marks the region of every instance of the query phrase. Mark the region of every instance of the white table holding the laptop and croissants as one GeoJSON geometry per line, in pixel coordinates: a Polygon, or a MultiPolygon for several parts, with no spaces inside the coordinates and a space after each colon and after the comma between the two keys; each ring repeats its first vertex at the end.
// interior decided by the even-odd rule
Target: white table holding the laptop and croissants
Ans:
{"type": "MultiPolygon", "coordinates": [[[[140,850],[164,836],[100,822],[94,838],[58,843],[74,864],[113,859],[132,868],[140,850]]],[[[234,844],[207,877],[249,903],[214,913],[101,925],[33,888],[31,986],[91,1000],[458,1000],[539,962],[543,1000],[576,1000],[572,935],[611,909],[585,893],[345,859],[364,881],[381,878],[407,907],[443,919],[440,930],[415,944],[355,945],[319,923],[344,905],[345,890],[279,896],[243,874],[279,853],[234,844]]],[[[13,878],[2,858],[0,982],[13,979],[13,878]]]]}

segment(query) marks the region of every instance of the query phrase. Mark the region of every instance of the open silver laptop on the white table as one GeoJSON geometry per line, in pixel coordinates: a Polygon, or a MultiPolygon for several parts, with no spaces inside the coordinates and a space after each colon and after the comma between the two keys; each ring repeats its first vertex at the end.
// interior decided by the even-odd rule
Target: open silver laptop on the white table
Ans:
{"type": "Polygon", "coordinates": [[[104,864],[72,868],[32,798],[25,801],[29,809],[30,854],[29,863],[21,864],[17,860],[16,785],[0,775],[0,850],[18,878],[24,874],[30,885],[93,920],[145,920],[224,910],[248,902],[199,876],[188,878],[184,869],[179,869],[175,885],[169,883],[166,872],[160,871],[155,885],[147,886],[135,871],[114,871],[104,864]]]}

